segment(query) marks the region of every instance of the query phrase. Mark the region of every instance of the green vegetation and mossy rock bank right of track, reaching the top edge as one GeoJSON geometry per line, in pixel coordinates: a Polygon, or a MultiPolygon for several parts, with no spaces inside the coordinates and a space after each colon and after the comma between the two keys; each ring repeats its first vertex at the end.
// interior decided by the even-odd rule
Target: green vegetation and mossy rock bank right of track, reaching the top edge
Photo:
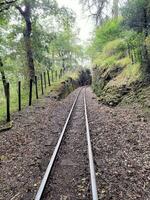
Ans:
{"type": "Polygon", "coordinates": [[[120,16],[103,19],[87,51],[94,65],[93,89],[111,106],[150,83],[150,3],[121,2],[120,16]]]}

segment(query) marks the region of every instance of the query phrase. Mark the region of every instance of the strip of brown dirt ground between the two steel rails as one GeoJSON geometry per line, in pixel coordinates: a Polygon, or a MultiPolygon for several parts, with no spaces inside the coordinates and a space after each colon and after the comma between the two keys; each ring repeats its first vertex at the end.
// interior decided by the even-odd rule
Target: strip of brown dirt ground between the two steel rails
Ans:
{"type": "Polygon", "coordinates": [[[81,90],[51,177],[44,200],[90,200],[89,165],[84,118],[84,88],[81,90]]]}

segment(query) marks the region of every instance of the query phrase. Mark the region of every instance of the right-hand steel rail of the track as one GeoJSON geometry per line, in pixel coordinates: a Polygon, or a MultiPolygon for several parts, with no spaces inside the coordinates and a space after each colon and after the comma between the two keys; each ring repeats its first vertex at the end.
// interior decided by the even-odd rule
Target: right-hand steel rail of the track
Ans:
{"type": "Polygon", "coordinates": [[[90,166],[92,199],[98,200],[94,159],[93,159],[93,152],[92,152],[92,145],[91,145],[88,114],[87,114],[86,89],[85,89],[85,94],[84,94],[84,110],[85,110],[86,136],[87,136],[87,143],[88,143],[88,157],[89,157],[89,166],[90,166]]]}

